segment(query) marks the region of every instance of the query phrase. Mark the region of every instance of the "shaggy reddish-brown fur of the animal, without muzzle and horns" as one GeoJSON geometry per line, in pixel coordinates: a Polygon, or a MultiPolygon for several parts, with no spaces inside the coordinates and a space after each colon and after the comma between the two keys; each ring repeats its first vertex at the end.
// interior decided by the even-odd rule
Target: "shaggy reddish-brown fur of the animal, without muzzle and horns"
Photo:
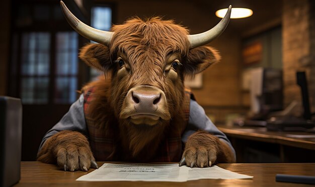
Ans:
{"type": "MultiPolygon", "coordinates": [[[[106,76],[106,79],[87,85],[96,88],[89,110],[96,120],[96,128],[105,131],[111,128],[111,131],[116,132],[122,146],[116,147],[116,150],[125,155],[124,159],[149,160],[167,132],[183,130],[185,120],[181,103],[184,99],[184,77],[205,70],[217,62],[220,56],[210,47],[190,50],[188,31],[173,21],[163,21],[161,18],[146,21],[133,18],[123,25],[113,26],[112,31],[115,34],[109,47],[90,44],[80,53],[83,61],[103,71],[106,76]],[[122,67],[118,65],[118,59],[124,61],[122,67]],[[180,64],[178,69],[172,68],[175,59],[180,64]],[[165,112],[171,115],[171,120],[161,119],[158,124],[148,127],[134,125],[129,119],[120,118],[127,92],[137,85],[154,86],[165,93],[165,112]]],[[[59,135],[53,137],[47,140],[39,152],[39,160],[49,162],[56,157],[54,150],[47,148],[59,144],[59,135]]],[[[86,144],[83,147],[88,147],[88,142],[84,142],[86,144]]],[[[72,142],[66,144],[72,145],[72,142]]],[[[207,160],[209,152],[211,162],[233,161],[230,148],[210,134],[198,132],[189,138],[184,152],[189,164],[198,151],[202,151],[200,156],[205,154],[204,159],[207,160]]],[[[207,165],[199,157],[196,164],[201,167],[207,165]]],[[[62,166],[62,163],[59,165],[62,166]]]]}

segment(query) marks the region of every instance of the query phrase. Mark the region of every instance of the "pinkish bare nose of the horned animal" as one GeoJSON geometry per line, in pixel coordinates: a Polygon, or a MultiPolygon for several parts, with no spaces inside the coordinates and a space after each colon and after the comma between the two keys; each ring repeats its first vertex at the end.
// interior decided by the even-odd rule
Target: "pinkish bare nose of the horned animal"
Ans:
{"type": "Polygon", "coordinates": [[[157,90],[134,90],[132,100],[137,111],[155,111],[161,101],[161,93],[157,90]]]}

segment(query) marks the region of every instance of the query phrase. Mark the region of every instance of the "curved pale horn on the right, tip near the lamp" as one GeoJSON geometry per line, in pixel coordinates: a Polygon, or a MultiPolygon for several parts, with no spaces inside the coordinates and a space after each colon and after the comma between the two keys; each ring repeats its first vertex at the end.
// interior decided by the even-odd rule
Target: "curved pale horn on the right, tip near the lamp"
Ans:
{"type": "Polygon", "coordinates": [[[227,12],[224,16],[224,18],[212,29],[209,31],[206,31],[204,33],[196,34],[196,35],[187,35],[189,43],[190,43],[190,48],[196,48],[202,45],[205,45],[212,40],[214,40],[216,37],[220,36],[223,31],[225,30],[228,22],[229,22],[229,17],[231,15],[231,9],[232,6],[230,5],[227,9],[227,12]]]}

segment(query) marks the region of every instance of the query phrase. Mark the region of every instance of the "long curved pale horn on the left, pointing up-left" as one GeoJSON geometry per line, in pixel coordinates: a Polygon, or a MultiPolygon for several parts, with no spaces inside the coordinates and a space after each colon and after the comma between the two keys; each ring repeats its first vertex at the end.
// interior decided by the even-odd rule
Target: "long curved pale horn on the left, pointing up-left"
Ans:
{"type": "Polygon", "coordinates": [[[112,40],[114,32],[101,31],[90,27],[80,20],[78,20],[73,14],[68,10],[68,8],[64,5],[62,1],[60,1],[60,6],[62,12],[70,24],[70,26],[83,37],[98,42],[100,44],[104,44],[108,46],[112,40]]]}

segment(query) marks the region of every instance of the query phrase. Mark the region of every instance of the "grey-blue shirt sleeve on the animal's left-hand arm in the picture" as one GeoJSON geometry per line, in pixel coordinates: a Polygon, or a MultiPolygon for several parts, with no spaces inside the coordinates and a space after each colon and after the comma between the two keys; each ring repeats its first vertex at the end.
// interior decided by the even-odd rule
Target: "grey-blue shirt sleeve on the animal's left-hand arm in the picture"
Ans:
{"type": "Polygon", "coordinates": [[[47,138],[62,130],[78,131],[87,135],[87,125],[84,116],[84,95],[80,97],[70,106],[69,111],[55,124],[43,137],[38,151],[42,148],[47,138]]]}

